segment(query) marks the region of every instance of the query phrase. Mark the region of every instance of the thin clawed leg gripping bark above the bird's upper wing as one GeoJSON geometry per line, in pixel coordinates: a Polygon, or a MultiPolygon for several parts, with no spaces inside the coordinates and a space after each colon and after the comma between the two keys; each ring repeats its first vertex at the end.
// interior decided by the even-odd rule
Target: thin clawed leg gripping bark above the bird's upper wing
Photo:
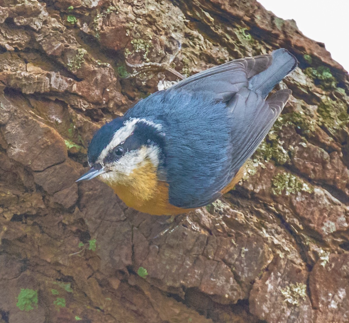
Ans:
{"type": "Polygon", "coordinates": [[[184,79],[185,77],[181,75],[178,71],[173,69],[170,64],[173,62],[174,58],[178,55],[180,49],[181,49],[181,43],[177,40],[177,49],[176,51],[171,55],[169,62],[164,63],[156,63],[156,62],[149,62],[149,63],[142,63],[142,64],[130,64],[129,62],[126,62],[126,65],[133,68],[134,72],[130,75],[128,75],[126,78],[130,77],[136,77],[142,73],[151,73],[151,72],[165,72],[168,71],[172,73],[173,75],[176,75],[180,79],[184,79]]]}

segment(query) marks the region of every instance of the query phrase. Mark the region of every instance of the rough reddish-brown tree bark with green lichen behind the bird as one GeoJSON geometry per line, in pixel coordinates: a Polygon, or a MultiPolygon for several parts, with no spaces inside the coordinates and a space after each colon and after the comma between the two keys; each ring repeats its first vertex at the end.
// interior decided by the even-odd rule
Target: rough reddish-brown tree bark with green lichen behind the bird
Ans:
{"type": "Polygon", "coordinates": [[[0,5],[0,322],[349,321],[349,77],[324,44],[254,0],[0,5]],[[279,47],[299,67],[244,180],[166,223],[74,181],[98,127],[177,79],[126,61],[176,40],[186,75],[279,47]]]}

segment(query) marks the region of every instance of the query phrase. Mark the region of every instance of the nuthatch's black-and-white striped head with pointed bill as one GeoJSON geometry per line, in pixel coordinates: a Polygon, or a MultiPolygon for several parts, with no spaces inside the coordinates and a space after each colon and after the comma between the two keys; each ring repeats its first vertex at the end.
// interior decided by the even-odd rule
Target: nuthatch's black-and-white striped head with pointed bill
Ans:
{"type": "Polygon", "coordinates": [[[162,125],[153,121],[114,119],[92,138],[87,153],[91,168],[77,182],[99,176],[115,186],[132,182],[142,168],[159,172],[164,163],[164,136],[162,125]]]}

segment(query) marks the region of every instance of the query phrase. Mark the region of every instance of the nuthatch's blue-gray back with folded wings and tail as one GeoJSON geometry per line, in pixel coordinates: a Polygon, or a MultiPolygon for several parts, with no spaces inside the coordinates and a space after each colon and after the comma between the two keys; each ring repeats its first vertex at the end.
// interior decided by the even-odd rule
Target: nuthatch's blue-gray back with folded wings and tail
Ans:
{"type": "Polygon", "coordinates": [[[266,96],[297,66],[285,49],[228,62],[137,103],[125,117],[163,125],[169,201],[217,199],[266,136],[291,91],[266,96]]]}

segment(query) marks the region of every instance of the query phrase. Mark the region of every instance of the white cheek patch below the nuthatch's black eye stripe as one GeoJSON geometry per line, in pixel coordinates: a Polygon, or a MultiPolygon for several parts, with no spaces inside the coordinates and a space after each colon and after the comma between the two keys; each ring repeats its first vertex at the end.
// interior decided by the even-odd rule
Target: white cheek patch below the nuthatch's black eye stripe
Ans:
{"type": "Polygon", "coordinates": [[[106,182],[124,181],[135,169],[145,166],[151,162],[155,168],[159,164],[160,148],[154,145],[141,146],[139,149],[125,153],[118,161],[106,165],[107,172],[101,174],[106,182]]]}

